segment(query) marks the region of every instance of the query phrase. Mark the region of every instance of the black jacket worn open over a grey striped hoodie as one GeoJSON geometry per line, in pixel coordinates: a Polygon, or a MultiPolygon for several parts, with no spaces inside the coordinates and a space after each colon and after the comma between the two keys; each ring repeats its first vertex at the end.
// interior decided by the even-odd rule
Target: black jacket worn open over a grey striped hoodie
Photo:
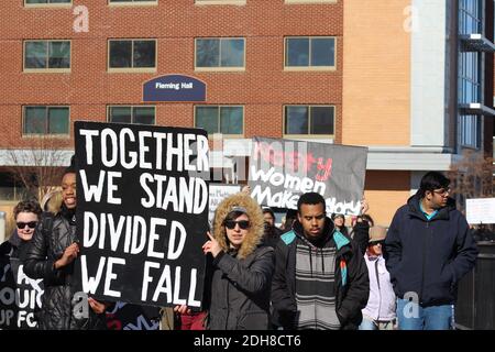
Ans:
{"type": "MultiPolygon", "coordinates": [[[[275,250],[276,266],[272,282],[272,304],[277,311],[278,323],[294,329],[296,304],[296,244],[302,241],[302,226],[296,221],[293,231],[282,235],[275,250]]],[[[336,253],[336,310],[341,329],[358,329],[362,320],[361,309],[370,295],[367,267],[358,244],[348,235],[334,231],[333,222],[326,219],[319,248],[337,246],[336,253]]]]}

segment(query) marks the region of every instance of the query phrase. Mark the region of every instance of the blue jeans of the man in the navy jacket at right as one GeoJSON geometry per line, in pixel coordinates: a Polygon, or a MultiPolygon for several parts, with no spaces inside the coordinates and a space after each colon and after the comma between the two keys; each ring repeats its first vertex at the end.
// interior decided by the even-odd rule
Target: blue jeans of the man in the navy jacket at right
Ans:
{"type": "Polygon", "coordinates": [[[415,301],[397,299],[399,330],[450,330],[453,305],[421,307],[415,301]]]}

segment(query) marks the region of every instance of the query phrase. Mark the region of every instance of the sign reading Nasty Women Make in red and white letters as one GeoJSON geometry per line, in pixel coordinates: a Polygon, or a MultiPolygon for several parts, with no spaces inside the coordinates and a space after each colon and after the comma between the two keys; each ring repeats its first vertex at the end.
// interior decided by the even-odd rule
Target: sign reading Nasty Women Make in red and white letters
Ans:
{"type": "Polygon", "coordinates": [[[268,207],[297,209],[300,195],[323,196],[327,212],[359,215],[367,148],[254,138],[251,196],[268,207]]]}

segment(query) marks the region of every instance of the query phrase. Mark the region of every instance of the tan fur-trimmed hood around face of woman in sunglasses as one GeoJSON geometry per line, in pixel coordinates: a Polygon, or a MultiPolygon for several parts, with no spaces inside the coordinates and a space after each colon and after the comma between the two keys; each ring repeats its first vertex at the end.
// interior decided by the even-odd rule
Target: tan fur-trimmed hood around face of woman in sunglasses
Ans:
{"type": "Polygon", "coordinates": [[[239,193],[223,199],[215,212],[213,220],[213,237],[219,242],[224,252],[229,250],[226,228],[222,226],[223,220],[229,215],[233,207],[243,207],[248,210],[248,218],[251,227],[248,230],[248,235],[239,249],[238,257],[245,258],[254,252],[263,238],[264,219],[260,205],[249,195],[239,193]]]}

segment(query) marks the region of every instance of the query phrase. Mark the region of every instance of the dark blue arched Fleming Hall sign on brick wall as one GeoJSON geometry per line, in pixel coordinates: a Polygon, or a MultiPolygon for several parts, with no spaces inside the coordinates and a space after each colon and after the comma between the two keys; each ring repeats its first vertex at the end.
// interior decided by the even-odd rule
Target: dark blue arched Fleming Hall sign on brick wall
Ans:
{"type": "Polygon", "coordinates": [[[143,101],[206,101],[206,84],[183,75],[156,77],[144,82],[143,101]]]}

